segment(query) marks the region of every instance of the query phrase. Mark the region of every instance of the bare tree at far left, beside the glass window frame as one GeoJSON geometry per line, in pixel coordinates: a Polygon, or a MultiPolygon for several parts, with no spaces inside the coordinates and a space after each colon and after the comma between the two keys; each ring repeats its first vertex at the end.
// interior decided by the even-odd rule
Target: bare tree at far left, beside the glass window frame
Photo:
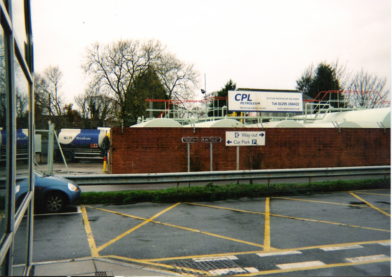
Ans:
{"type": "Polygon", "coordinates": [[[42,113],[49,115],[62,115],[64,110],[61,78],[63,73],[58,66],[44,69],[42,74],[34,73],[34,96],[36,106],[42,113]]]}

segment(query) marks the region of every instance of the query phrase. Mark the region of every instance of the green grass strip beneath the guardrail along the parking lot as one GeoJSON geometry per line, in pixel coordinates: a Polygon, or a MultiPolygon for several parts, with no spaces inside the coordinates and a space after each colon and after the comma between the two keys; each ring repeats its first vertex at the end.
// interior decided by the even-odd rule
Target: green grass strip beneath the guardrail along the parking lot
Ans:
{"type": "Polygon", "coordinates": [[[82,192],[76,205],[127,205],[141,202],[211,202],[244,197],[292,196],[309,193],[337,191],[389,189],[391,179],[367,179],[352,181],[325,181],[304,184],[228,184],[168,188],[161,190],[126,190],[108,192],[82,192]]]}

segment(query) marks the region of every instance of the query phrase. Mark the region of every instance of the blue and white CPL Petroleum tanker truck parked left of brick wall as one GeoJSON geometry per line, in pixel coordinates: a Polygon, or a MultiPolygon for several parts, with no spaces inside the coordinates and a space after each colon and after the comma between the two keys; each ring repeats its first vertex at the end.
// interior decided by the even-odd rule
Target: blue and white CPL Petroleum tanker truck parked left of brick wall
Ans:
{"type": "Polygon", "coordinates": [[[67,162],[80,159],[102,159],[109,150],[110,128],[61,129],[58,141],[67,162]]]}

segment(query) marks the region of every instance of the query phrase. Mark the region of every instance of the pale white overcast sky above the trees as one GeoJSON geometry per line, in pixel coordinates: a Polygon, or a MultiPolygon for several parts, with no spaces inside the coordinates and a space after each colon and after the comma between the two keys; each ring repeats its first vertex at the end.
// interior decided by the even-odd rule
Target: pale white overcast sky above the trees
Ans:
{"type": "Polygon", "coordinates": [[[230,78],[294,90],[304,69],[337,59],[390,86],[391,0],[31,0],[31,9],[35,71],[58,65],[67,103],[84,91],[85,48],[121,38],[160,40],[195,65],[207,92],[230,78]]]}

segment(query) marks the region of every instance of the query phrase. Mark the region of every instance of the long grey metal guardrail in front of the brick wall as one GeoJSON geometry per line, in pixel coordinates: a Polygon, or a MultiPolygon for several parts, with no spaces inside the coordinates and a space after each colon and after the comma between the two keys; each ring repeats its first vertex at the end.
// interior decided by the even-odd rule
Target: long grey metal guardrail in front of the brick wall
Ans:
{"type": "Polygon", "coordinates": [[[391,175],[391,166],[203,171],[150,174],[64,175],[62,177],[72,180],[78,185],[137,185],[245,180],[268,180],[270,184],[271,179],[288,178],[309,178],[309,183],[311,183],[312,178],[315,177],[361,175],[384,175],[384,178],[387,178],[387,175],[391,175]]]}

